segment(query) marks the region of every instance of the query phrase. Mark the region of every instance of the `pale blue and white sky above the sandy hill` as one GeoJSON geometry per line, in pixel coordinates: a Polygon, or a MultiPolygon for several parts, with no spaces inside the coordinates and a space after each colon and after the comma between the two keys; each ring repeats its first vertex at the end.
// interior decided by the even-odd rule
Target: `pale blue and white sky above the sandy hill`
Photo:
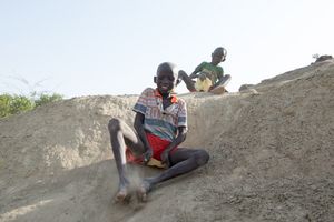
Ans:
{"type": "Polygon", "coordinates": [[[234,92],[334,56],[333,11],[332,0],[0,0],[0,93],[140,94],[159,63],[191,73],[216,47],[234,92]]]}

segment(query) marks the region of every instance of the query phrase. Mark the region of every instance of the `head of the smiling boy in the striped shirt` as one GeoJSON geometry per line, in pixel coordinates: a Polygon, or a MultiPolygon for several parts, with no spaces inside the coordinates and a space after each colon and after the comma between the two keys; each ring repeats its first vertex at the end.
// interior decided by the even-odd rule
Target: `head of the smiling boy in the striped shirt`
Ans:
{"type": "Polygon", "coordinates": [[[170,93],[175,88],[178,78],[178,70],[175,64],[170,62],[164,62],[159,64],[157,69],[157,75],[155,77],[155,83],[161,94],[170,93]]]}

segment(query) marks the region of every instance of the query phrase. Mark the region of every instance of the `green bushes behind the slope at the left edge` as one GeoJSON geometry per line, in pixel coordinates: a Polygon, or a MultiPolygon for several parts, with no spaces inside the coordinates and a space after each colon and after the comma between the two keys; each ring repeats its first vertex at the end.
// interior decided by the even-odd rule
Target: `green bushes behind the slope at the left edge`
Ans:
{"type": "Polygon", "coordinates": [[[61,94],[40,94],[37,97],[26,97],[18,94],[0,94],[0,118],[9,117],[12,114],[22,113],[29,110],[33,110],[37,107],[46,103],[62,100],[61,94]]]}

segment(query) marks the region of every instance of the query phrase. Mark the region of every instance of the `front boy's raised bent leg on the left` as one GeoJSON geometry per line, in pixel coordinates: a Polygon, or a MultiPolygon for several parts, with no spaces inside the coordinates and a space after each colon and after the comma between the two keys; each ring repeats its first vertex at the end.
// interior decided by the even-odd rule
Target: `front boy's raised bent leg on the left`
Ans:
{"type": "Polygon", "coordinates": [[[112,118],[108,124],[112,153],[119,175],[116,198],[121,201],[128,195],[129,181],[126,175],[126,147],[134,153],[144,153],[144,145],[137,133],[122,120],[112,118]]]}

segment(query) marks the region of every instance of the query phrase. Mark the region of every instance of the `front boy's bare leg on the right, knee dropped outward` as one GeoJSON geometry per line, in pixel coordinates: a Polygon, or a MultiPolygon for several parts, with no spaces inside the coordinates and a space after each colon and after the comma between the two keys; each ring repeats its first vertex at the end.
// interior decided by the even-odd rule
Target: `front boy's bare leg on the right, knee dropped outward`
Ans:
{"type": "Polygon", "coordinates": [[[205,150],[195,150],[178,148],[169,155],[171,167],[154,178],[147,178],[143,181],[140,192],[143,199],[146,193],[156,184],[169,180],[171,178],[188,173],[204,164],[209,160],[209,155],[205,150]]]}

